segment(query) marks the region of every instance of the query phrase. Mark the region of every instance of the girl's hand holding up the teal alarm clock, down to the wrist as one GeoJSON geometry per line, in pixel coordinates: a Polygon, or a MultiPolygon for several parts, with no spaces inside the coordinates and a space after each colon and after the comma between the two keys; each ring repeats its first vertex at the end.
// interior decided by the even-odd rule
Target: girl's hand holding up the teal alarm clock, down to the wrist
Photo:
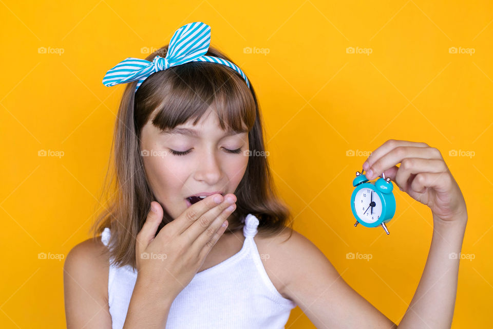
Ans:
{"type": "Polygon", "coordinates": [[[390,139],[363,164],[372,180],[382,172],[413,199],[430,207],[433,218],[467,220],[464,196],[439,150],[426,143],[390,139]],[[397,163],[401,163],[397,167],[397,163]]]}

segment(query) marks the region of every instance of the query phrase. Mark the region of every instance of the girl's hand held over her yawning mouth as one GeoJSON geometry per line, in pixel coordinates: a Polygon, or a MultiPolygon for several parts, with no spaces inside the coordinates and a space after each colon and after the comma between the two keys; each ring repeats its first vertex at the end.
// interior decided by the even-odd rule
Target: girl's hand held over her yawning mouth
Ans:
{"type": "Polygon", "coordinates": [[[226,194],[224,198],[221,194],[207,196],[188,207],[156,235],[163,210],[158,202],[151,202],[151,211],[137,234],[138,276],[156,288],[163,288],[160,291],[167,295],[165,298],[176,298],[192,281],[206,255],[226,230],[226,218],[236,209],[235,203],[234,194],[226,194]],[[231,196],[233,201],[229,202],[226,196],[231,196]],[[215,197],[219,197],[219,204],[215,197]],[[221,226],[223,223],[225,226],[221,226]]]}

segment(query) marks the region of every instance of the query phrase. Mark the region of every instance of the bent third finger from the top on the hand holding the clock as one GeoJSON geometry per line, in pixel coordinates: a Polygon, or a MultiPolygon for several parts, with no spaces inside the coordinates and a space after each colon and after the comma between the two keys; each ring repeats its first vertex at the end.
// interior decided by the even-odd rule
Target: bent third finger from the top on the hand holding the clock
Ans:
{"type": "Polygon", "coordinates": [[[407,191],[409,182],[415,179],[415,176],[411,177],[412,174],[423,172],[440,173],[446,171],[447,166],[442,159],[405,158],[401,162],[401,167],[397,170],[394,181],[401,191],[407,191]]]}

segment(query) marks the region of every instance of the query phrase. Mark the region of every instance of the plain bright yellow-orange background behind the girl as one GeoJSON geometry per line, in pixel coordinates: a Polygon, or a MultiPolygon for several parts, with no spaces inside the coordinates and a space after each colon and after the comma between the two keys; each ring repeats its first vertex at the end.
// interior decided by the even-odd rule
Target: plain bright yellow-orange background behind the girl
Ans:
{"type": "MultiPolygon", "coordinates": [[[[355,228],[351,182],[365,154],[387,139],[424,141],[442,152],[468,207],[462,251],[474,257],[461,261],[452,327],[493,326],[491,2],[0,3],[1,327],[65,325],[64,261],[38,254],[64,257],[89,237],[101,207],[123,90],[102,78],[195,21],[211,26],[211,45],[256,88],[271,168],[294,228],[396,323],[421,277],[431,212],[394,189],[390,235],[355,228]],[[64,155],[42,157],[40,150],[64,155]],[[348,252],[372,259],[350,260],[348,252]]],[[[295,308],[287,328],[312,327],[295,308]]]]}

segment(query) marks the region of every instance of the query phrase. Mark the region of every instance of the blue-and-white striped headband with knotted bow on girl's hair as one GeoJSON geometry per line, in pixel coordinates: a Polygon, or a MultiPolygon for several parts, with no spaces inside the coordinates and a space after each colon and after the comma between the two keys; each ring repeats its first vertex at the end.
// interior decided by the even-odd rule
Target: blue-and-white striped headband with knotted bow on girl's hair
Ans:
{"type": "Polygon", "coordinates": [[[139,82],[135,87],[135,91],[137,92],[142,82],[155,72],[188,62],[212,62],[226,65],[237,71],[250,88],[247,76],[245,76],[238,66],[222,58],[205,56],[210,42],[210,26],[202,22],[188,23],[180,27],[173,34],[173,38],[169,42],[166,57],[156,56],[152,62],[128,57],[106,72],[103,78],[103,84],[111,87],[119,83],[138,80],[139,82]]]}

